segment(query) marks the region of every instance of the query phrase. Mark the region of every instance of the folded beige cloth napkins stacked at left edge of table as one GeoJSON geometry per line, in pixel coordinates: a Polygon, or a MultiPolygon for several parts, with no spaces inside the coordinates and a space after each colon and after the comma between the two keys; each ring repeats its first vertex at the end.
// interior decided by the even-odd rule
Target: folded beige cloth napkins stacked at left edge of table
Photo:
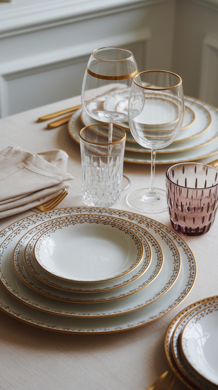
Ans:
{"type": "Polygon", "coordinates": [[[66,173],[68,154],[52,150],[39,154],[19,147],[0,151],[0,218],[21,213],[54,198],[73,177],[66,173]]]}

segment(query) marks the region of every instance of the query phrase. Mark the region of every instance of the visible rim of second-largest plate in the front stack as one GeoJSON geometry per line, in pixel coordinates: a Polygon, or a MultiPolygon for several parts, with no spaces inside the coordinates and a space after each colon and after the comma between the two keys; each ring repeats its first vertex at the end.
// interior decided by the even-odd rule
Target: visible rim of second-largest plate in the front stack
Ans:
{"type": "MultiPolygon", "coordinates": [[[[86,214],[80,214],[78,216],[78,218],[80,218],[80,220],[84,220],[84,222],[89,217],[93,219],[93,215],[91,214],[88,216],[86,214]]],[[[74,214],[73,220],[76,220],[76,218],[77,216],[74,214]]],[[[114,216],[101,215],[102,221],[103,218],[105,218],[105,221],[114,221],[114,216]]],[[[47,219],[46,214],[44,214],[41,218],[41,223],[43,222],[43,219],[47,219]]],[[[131,226],[130,221],[129,225],[131,226]]],[[[35,230],[37,231],[37,229],[40,229],[40,226],[37,226],[35,230]]],[[[140,226],[137,229],[140,232],[140,226]]],[[[151,284],[146,285],[143,289],[140,289],[134,294],[124,296],[122,299],[100,303],[73,303],[55,300],[30,289],[26,284],[21,282],[20,278],[17,277],[11,261],[14,245],[16,244],[17,239],[16,229],[0,245],[0,250],[2,250],[2,254],[0,255],[0,281],[5,288],[20,301],[23,301],[31,307],[38,308],[45,312],[50,312],[52,314],[90,318],[117,316],[122,313],[138,310],[146,305],[150,305],[152,302],[159,299],[160,296],[166,294],[178,278],[181,267],[180,254],[178,253],[178,249],[173,241],[166,234],[163,234],[161,230],[155,231],[155,229],[150,226],[146,226],[146,230],[153,234],[156,233],[155,239],[158,243],[161,243],[163,255],[165,257],[162,269],[157,275],[157,278],[155,278],[151,284]]],[[[138,282],[138,279],[136,279],[136,282],[138,282]]]]}

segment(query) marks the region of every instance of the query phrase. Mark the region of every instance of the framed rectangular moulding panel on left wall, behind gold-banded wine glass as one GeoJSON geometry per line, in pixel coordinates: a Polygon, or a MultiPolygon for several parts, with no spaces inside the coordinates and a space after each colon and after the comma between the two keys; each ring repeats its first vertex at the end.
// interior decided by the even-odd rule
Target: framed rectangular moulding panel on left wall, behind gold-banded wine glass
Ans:
{"type": "MultiPolygon", "coordinates": [[[[92,48],[123,46],[136,53],[143,69],[147,57],[148,28],[92,42],[92,48]]],[[[91,54],[90,44],[50,51],[0,65],[0,113],[2,117],[81,92],[85,68],[91,54]]]]}

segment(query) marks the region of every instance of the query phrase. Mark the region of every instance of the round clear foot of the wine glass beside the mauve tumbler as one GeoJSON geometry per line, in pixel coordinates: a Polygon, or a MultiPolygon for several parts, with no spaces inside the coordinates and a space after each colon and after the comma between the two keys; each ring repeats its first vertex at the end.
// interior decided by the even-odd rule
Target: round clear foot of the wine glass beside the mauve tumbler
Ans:
{"type": "Polygon", "coordinates": [[[150,213],[157,213],[167,210],[167,195],[165,190],[155,188],[156,196],[148,197],[149,188],[129,193],[126,197],[126,203],[135,210],[150,213]]]}

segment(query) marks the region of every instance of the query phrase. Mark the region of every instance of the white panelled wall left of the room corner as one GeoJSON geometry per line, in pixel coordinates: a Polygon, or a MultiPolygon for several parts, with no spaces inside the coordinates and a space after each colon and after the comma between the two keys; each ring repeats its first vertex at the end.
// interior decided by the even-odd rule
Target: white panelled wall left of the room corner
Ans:
{"type": "Polygon", "coordinates": [[[91,52],[133,51],[138,68],[170,69],[175,0],[0,3],[0,116],[80,94],[91,52]]]}

